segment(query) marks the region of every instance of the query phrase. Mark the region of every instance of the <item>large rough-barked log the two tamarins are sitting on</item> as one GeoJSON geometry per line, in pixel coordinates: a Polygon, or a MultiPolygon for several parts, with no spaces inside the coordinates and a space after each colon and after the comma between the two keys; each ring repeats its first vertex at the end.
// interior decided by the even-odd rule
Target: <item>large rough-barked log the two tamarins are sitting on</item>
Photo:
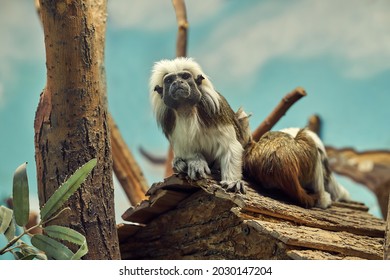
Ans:
{"type": "MultiPolygon", "coordinates": [[[[382,259],[385,223],[360,203],[304,209],[172,176],[118,226],[122,259],[382,259]]],[[[278,200],[276,199],[278,198],[278,200]]]]}

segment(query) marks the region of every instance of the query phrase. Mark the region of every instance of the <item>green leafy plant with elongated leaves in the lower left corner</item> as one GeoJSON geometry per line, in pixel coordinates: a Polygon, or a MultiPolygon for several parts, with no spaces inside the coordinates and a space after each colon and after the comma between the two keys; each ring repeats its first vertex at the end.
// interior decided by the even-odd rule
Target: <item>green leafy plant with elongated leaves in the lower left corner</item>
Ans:
{"type": "Polygon", "coordinates": [[[64,211],[70,210],[69,207],[61,210],[60,208],[84,182],[96,166],[96,162],[96,159],[92,159],[76,170],[41,208],[40,222],[30,228],[26,228],[30,213],[27,163],[20,165],[15,170],[13,178],[13,209],[0,206],[0,234],[4,234],[8,240],[8,244],[0,249],[0,255],[10,252],[16,259],[23,260],[47,258],[76,260],[84,256],[88,252],[88,246],[82,234],[63,226],[45,225],[55,220],[64,211]],[[17,226],[23,229],[19,235],[15,235],[17,226]],[[37,228],[42,228],[45,235],[32,235],[31,232],[37,228]],[[26,235],[32,236],[32,246],[22,240],[26,235]],[[79,246],[78,250],[74,253],[58,240],[76,244],[79,246]]]}

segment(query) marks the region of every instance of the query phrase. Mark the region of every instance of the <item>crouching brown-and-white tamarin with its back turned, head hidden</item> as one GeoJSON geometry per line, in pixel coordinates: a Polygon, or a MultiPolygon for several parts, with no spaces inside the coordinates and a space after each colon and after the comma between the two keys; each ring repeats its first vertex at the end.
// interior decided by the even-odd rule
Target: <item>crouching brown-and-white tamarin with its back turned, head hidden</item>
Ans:
{"type": "Polygon", "coordinates": [[[329,168],[325,147],[312,131],[270,131],[244,152],[244,174],[263,188],[276,188],[303,207],[327,208],[348,201],[347,190],[329,168]]]}

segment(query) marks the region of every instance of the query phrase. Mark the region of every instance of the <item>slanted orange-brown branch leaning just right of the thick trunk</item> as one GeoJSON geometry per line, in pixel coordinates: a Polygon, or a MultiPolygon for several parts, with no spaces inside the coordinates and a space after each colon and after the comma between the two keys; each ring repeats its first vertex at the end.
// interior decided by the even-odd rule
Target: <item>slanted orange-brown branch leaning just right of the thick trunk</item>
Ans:
{"type": "Polygon", "coordinates": [[[114,173],[131,205],[136,205],[145,198],[145,192],[149,186],[111,115],[108,117],[108,125],[111,134],[114,173]]]}

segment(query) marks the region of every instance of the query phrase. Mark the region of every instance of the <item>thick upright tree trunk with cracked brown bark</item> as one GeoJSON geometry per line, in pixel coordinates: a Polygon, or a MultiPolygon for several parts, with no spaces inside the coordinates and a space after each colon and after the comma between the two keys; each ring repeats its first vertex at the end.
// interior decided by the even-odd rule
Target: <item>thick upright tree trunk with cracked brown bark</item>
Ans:
{"type": "Polygon", "coordinates": [[[92,158],[97,166],[56,223],[87,238],[86,259],[119,259],[107,125],[106,0],[40,0],[47,84],[35,117],[40,204],[92,158]],[[66,212],[65,212],[66,213],[66,212]]]}

